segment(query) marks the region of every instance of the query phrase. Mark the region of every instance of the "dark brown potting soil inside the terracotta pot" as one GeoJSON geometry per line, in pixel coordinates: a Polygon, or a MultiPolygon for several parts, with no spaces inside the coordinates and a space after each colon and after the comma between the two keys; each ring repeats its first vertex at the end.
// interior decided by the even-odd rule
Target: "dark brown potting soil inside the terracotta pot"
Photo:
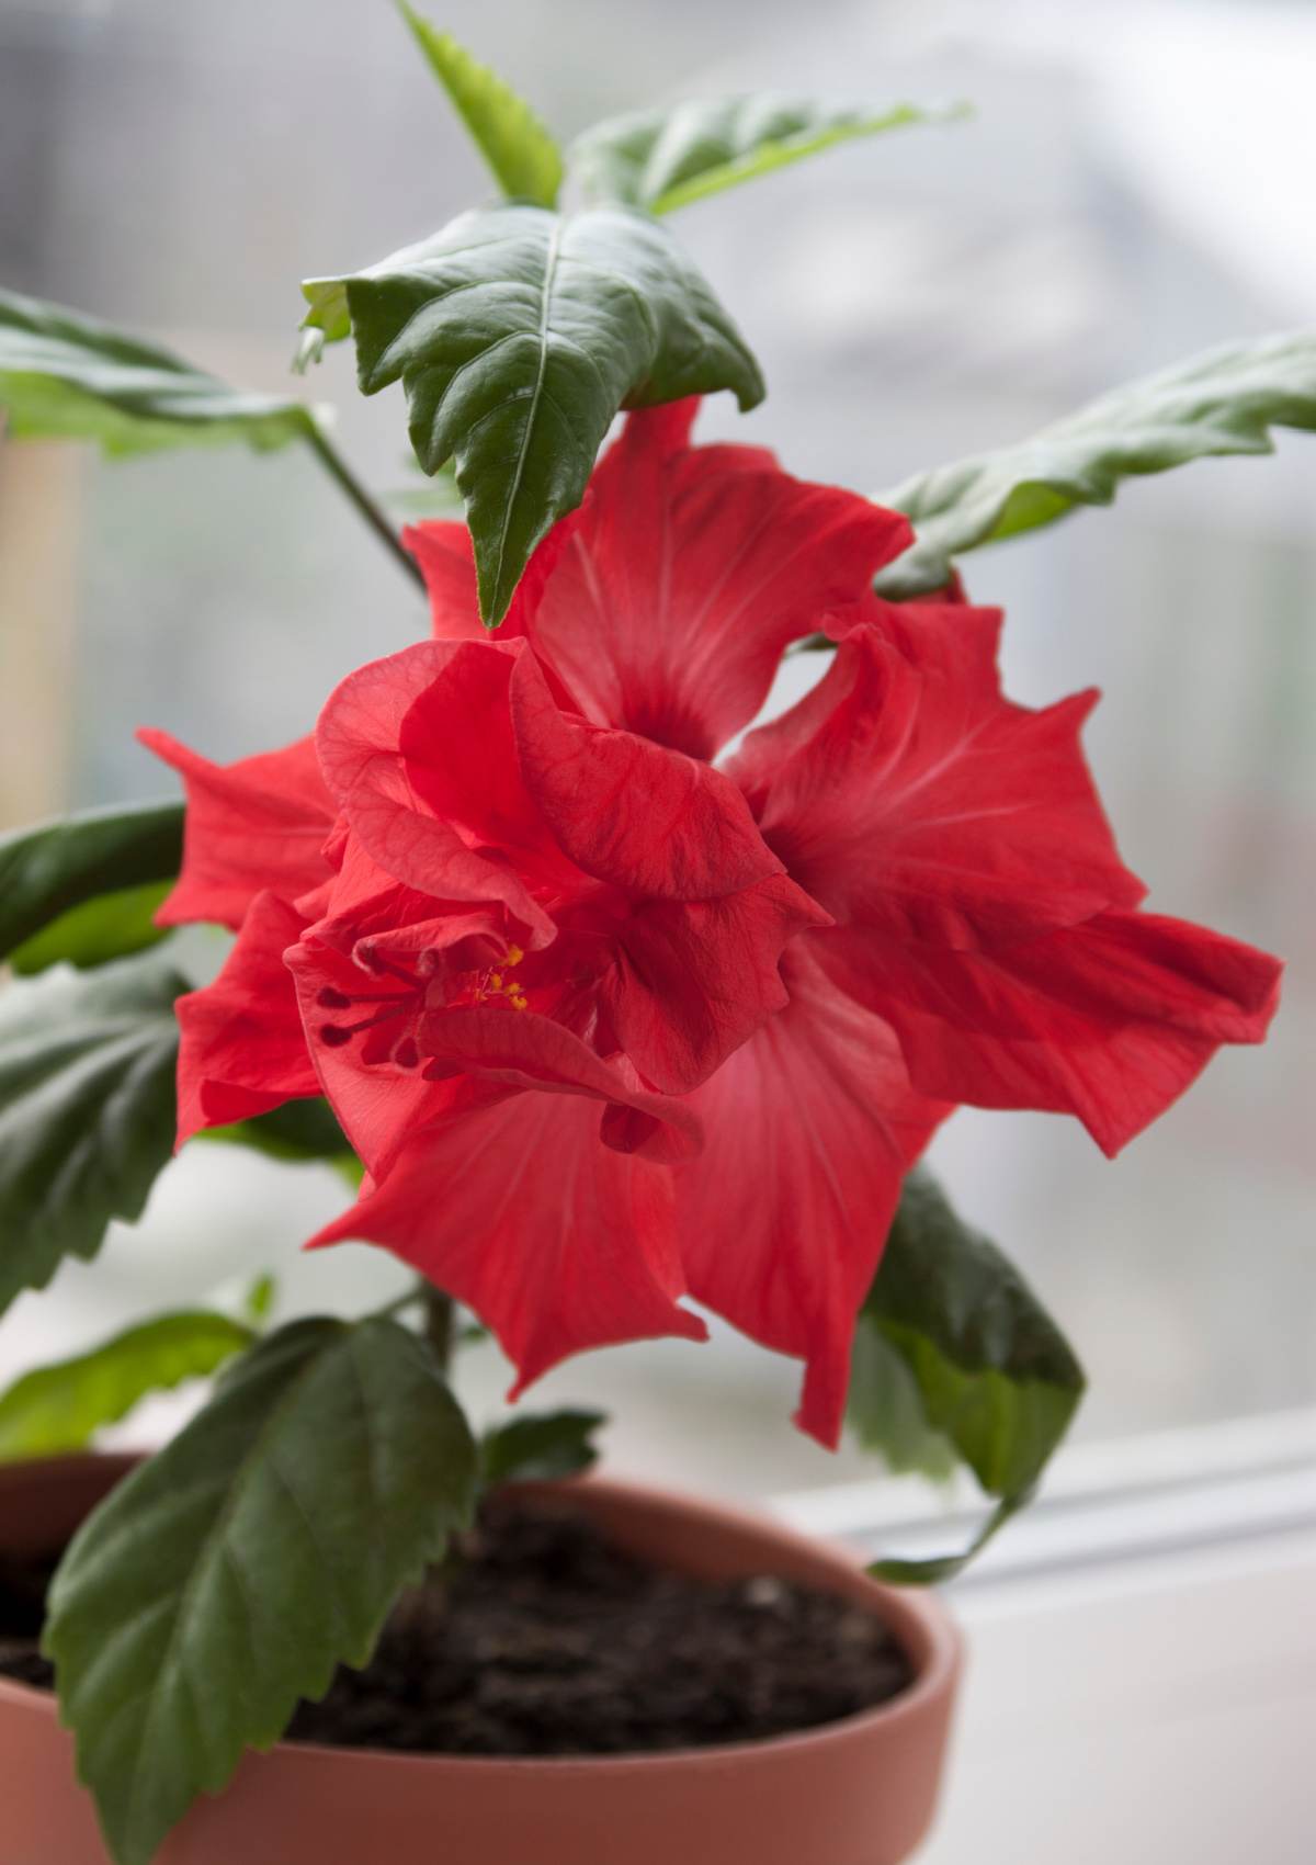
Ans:
{"type": "MultiPolygon", "coordinates": [[[[654,1568],[542,1501],[501,1498],[462,1552],[399,1602],[363,1671],[341,1667],[321,1703],[298,1706],[289,1740],[652,1753],[813,1729],[912,1680],[891,1632],[848,1600],[654,1568]]],[[[28,1684],[50,1682],[35,1649],[47,1574],[0,1565],[0,1673],[28,1684]]]]}

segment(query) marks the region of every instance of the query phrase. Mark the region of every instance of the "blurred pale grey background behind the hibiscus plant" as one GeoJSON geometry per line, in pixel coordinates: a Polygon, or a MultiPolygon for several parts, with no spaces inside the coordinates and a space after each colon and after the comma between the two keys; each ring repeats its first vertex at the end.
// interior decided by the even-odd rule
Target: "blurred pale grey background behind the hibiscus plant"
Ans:
{"type": "MultiPolygon", "coordinates": [[[[1202,0],[447,0],[563,136],[600,114],[777,88],[969,99],[673,220],[770,399],[706,436],[867,492],[1027,435],[1204,345],[1316,317],[1316,6],[1202,0]]],[[[298,280],[369,263],[488,194],[384,0],[0,0],[0,282],[281,390],[298,280]]],[[[380,490],[418,487],[397,390],[309,384],[380,490]]],[[[1131,483],[1109,513],[967,561],[1008,608],[1007,681],[1105,690],[1090,757],[1159,910],[1286,955],[1264,1050],[1217,1057],[1117,1164],[1070,1125],[962,1113],[960,1207],[1035,1279],[1092,1376],[1077,1434],[1128,1440],[1316,1399],[1316,444],[1131,483]]],[[[309,455],[103,464],[0,453],[0,826],[170,794],[138,724],[227,761],[308,729],[354,664],[414,640],[414,591],[309,455]]],[[[798,683],[820,671],[800,662],[798,683]]],[[[328,1169],[192,1147],[136,1229],[24,1298],[0,1378],[121,1317],[272,1268],[285,1307],[399,1281],[347,1246],[328,1169]]],[[[507,1380],[462,1373],[477,1410],[507,1380]]],[[[720,1330],[554,1375],[617,1410],[611,1455],[723,1492],[856,1475],[788,1427],[798,1369],[720,1330]],[[710,1421],[716,1419],[716,1429],[710,1421]]],[[[140,1436],[142,1427],[134,1427],[140,1436]]]]}

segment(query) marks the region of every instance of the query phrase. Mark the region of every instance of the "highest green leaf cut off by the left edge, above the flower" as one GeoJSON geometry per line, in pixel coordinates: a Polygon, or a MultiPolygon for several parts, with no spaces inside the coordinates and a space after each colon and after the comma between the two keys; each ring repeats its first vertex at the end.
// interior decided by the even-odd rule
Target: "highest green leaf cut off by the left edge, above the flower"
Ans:
{"type": "Polygon", "coordinates": [[[315,416],[287,395],[229,388],[171,351],[82,311],[0,291],[0,408],[13,438],[99,440],[106,453],[306,440],[315,416]]]}

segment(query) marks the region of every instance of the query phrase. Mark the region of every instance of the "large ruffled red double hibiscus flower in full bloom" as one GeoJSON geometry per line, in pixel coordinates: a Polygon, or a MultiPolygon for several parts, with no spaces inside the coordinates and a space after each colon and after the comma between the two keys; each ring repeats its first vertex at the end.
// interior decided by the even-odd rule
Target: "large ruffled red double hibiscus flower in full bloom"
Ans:
{"type": "Polygon", "coordinates": [[[956,1102],[1076,1113],[1105,1151],[1279,966],[1137,912],[1079,748],[999,615],[891,606],[904,518],[634,414],[514,610],[462,526],[408,541],[434,640],[347,679],[306,746],[188,783],[173,918],[240,923],[183,1000],[181,1132],[322,1091],[367,1167],[313,1242],[386,1244],[520,1386],[699,1337],[682,1292],[807,1361],[833,1444],[900,1181],[956,1102]],[[822,683],[761,709],[826,627],[822,683]]]}

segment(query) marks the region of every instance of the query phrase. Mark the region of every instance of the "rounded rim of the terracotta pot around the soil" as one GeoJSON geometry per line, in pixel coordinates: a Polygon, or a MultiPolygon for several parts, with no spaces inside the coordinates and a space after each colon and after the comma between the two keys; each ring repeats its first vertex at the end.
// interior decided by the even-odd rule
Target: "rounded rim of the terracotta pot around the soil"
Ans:
{"type": "MultiPolygon", "coordinates": [[[[56,1458],[34,1458],[26,1464],[17,1462],[0,1466],[0,1485],[24,1470],[30,1481],[43,1485],[47,1479],[58,1481],[67,1477],[75,1466],[104,1470],[106,1466],[117,1464],[127,1473],[127,1470],[138,1464],[144,1455],[145,1453],[132,1451],[104,1455],[88,1451],[56,1458]]],[[[436,1770],[440,1774],[472,1772],[490,1775],[514,1770],[522,1775],[602,1772],[611,1777],[621,1777],[623,1774],[634,1772],[652,1774],[662,1770],[684,1772],[690,1768],[727,1768],[747,1764],[759,1757],[770,1761],[774,1755],[802,1755],[835,1742],[863,1742],[876,1734],[878,1729],[887,1731],[923,1716],[932,1701],[945,1697],[954,1686],[954,1678],[964,1662],[964,1637],[947,1608],[930,1591],[889,1587],[880,1580],[872,1580],[865,1574],[863,1565],[856,1561],[854,1554],[837,1542],[813,1535],[802,1535],[798,1529],[777,1522],[772,1514],[759,1513],[742,1503],[710,1501],[703,1496],[669,1490],[662,1485],[636,1483],[608,1475],[589,1473],[585,1477],[569,1479],[567,1483],[524,1483],[518,1485],[518,1488],[528,1494],[544,1496],[563,1492],[570,1494],[570,1490],[593,1490],[595,1494],[615,1499],[623,1507],[626,1503],[637,1503],[647,1509],[656,1507],[669,1516],[693,1516],[712,1527],[721,1526],[727,1529],[753,1533],[775,1542],[779,1548],[807,1555],[815,1563],[820,1561],[831,1568],[837,1580],[844,1580],[848,1583],[846,1591],[856,1589],[856,1582],[861,1582],[863,1593],[869,1595],[872,1608],[887,1621],[895,1636],[900,1639],[906,1656],[915,1665],[913,1682],[908,1684],[897,1697],[889,1697],[885,1703],[878,1703],[869,1710],[857,1710],[854,1716],[839,1716],[833,1721],[818,1723],[813,1729],[796,1729],[787,1734],[759,1736],[746,1742],[708,1744],[701,1748],[636,1751],[630,1755],[399,1755],[388,1749],[337,1748],[322,1742],[276,1742],[268,1749],[261,1749],[261,1755],[267,1755],[270,1761],[276,1757],[295,1759],[298,1755],[308,1759],[334,1757],[339,1766],[386,1768],[395,1774],[436,1770]]],[[[803,1585],[813,1585],[820,1593],[829,1591],[824,1580],[807,1580],[803,1585]]],[[[11,1678],[0,1677],[0,1705],[4,1703],[13,1706],[22,1705],[62,1721],[58,1697],[52,1690],[39,1690],[34,1684],[19,1684],[11,1678]]]]}

